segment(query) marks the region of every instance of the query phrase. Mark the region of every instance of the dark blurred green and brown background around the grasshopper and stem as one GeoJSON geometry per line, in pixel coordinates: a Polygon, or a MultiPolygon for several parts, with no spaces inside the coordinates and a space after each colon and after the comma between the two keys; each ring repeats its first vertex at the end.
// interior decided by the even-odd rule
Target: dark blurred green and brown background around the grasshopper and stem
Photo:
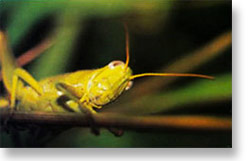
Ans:
{"type": "MultiPolygon", "coordinates": [[[[16,57],[51,38],[55,42],[24,66],[37,80],[125,61],[123,22],[130,34],[130,67],[143,72],[192,72],[198,78],[141,78],[100,112],[136,115],[232,115],[232,5],[228,0],[1,1],[0,27],[16,57]]],[[[1,94],[2,94],[1,84],[1,94]]],[[[188,125],[187,125],[188,126],[188,125]]],[[[16,129],[12,129],[17,131],[16,129]]],[[[102,129],[72,128],[56,138],[26,144],[1,132],[1,146],[45,147],[231,147],[231,130],[126,130],[115,137],[102,129]]]]}

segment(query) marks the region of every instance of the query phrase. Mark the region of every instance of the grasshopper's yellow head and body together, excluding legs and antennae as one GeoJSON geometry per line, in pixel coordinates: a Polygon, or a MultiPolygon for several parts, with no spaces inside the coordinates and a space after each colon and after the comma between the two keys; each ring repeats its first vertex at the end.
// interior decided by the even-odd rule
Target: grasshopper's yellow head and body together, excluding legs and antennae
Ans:
{"type": "MultiPolygon", "coordinates": [[[[85,95],[87,107],[102,107],[103,105],[117,98],[128,86],[129,77],[132,74],[127,68],[124,74],[122,65],[120,69],[111,70],[109,66],[96,70],[80,70],[73,73],[62,74],[49,77],[38,82],[43,89],[43,94],[39,95],[30,86],[21,86],[17,90],[17,100],[19,100],[18,110],[25,111],[51,111],[51,112],[81,112],[78,103],[68,100],[66,103],[70,107],[67,109],[58,103],[58,98],[64,93],[56,88],[57,83],[65,83],[75,88],[77,95],[85,95]]],[[[79,98],[80,99],[80,98],[79,98]]]]}

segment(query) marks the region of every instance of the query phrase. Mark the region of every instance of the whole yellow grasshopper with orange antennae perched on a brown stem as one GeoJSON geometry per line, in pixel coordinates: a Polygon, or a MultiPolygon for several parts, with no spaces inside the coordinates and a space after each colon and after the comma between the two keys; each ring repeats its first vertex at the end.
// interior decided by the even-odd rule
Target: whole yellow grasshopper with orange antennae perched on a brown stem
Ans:
{"type": "MultiPolygon", "coordinates": [[[[93,70],[79,70],[36,81],[16,65],[7,38],[0,32],[0,59],[3,83],[10,93],[10,107],[24,111],[90,112],[115,100],[132,86],[132,80],[144,76],[181,76],[213,79],[188,73],[143,73],[132,75],[129,64],[129,35],[125,26],[126,62],[112,61],[93,70]],[[15,105],[18,100],[18,105],[15,105]]],[[[51,69],[53,70],[53,69],[51,69]]]]}

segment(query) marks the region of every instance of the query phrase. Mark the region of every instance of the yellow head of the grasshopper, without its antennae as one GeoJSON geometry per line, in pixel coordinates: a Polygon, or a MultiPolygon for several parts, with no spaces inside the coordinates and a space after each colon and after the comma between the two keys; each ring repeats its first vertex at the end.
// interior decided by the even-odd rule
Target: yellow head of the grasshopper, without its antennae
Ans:
{"type": "Polygon", "coordinates": [[[132,86],[131,75],[132,70],[122,61],[112,61],[99,69],[88,83],[91,103],[102,106],[116,99],[132,86]]]}

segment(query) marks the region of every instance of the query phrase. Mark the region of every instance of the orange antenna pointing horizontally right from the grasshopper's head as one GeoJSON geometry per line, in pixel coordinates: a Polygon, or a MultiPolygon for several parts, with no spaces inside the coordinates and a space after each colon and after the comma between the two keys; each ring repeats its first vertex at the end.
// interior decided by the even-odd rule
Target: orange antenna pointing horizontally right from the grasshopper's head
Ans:
{"type": "Polygon", "coordinates": [[[136,74],[129,77],[130,80],[139,78],[139,77],[147,77],[147,76],[162,76],[162,77],[198,77],[198,78],[206,78],[206,79],[214,79],[212,76],[202,75],[202,74],[189,74],[189,73],[142,73],[136,74]]]}

